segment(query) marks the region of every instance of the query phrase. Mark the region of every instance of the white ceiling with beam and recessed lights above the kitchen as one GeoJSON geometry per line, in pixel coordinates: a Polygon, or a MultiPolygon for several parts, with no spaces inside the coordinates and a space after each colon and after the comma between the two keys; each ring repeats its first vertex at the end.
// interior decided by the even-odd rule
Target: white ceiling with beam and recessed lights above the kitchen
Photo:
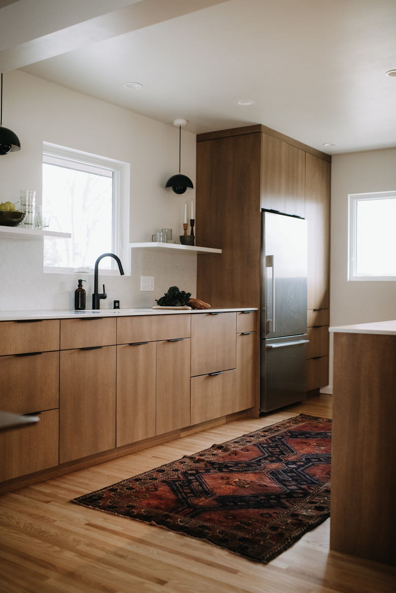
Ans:
{"type": "Polygon", "coordinates": [[[0,40],[3,71],[193,133],[262,123],[329,154],[396,146],[395,0],[5,0],[0,40]]]}

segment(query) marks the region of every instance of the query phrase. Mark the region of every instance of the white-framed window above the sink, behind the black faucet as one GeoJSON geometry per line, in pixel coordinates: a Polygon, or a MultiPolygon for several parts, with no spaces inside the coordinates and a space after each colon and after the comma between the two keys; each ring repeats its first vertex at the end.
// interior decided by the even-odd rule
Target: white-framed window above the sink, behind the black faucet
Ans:
{"type": "MultiPolygon", "coordinates": [[[[50,228],[72,235],[44,241],[45,272],[87,272],[107,252],[129,269],[127,163],[45,143],[43,206],[52,213],[50,228]]],[[[102,272],[115,266],[110,257],[100,262],[102,272]]]]}

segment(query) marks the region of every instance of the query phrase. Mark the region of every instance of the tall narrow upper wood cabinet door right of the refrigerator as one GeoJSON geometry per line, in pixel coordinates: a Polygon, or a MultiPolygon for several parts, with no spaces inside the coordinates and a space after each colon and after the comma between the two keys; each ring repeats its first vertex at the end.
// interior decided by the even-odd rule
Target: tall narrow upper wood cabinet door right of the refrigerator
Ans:
{"type": "Polygon", "coordinates": [[[330,162],[306,154],[308,309],[329,306],[330,162]]]}

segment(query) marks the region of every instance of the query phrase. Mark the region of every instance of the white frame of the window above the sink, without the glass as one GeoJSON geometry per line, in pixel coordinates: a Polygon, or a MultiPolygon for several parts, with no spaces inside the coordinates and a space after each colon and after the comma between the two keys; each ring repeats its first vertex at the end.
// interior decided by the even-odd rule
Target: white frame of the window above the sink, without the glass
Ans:
{"type": "MultiPolygon", "coordinates": [[[[131,250],[129,249],[129,163],[66,148],[66,146],[59,146],[50,142],[43,142],[44,162],[62,166],[67,166],[69,163],[72,165],[72,168],[82,171],[88,171],[91,165],[93,167],[92,171],[95,173],[97,173],[98,168],[113,171],[112,250],[121,259],[125,275],[131,275],[131,250]]],[[[69,232],[69,229],[65,229],[65,232],[69,232]]],[[[98,257],[100,255],[102,254],[97,254],[98,257]]],[[[112,267],[112,270],[101,269],[100,274],[119,274],[118,267],[113,259],[112,267]]],[[[79,269],[72,267],[44,266],[44,272],[46,273],[67,274],[75,273],[77,270],[79,269]]],[[[88,272],[88,270],[81,271],[88,272]]],[[[93,273],[93,271],[93,268],[90,268],[88,273],[93,273]]]]}

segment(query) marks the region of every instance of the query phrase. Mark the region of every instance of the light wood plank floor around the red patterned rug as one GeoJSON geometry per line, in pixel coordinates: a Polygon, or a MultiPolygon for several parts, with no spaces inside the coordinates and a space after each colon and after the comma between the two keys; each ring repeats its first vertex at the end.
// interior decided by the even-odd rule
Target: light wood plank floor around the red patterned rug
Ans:
{"type": "Polygon", "coordinates": [[[391,593],[396,571],[329,551],[330,519],[268,565],[69,500],[304,412],[331,396],[185,436],[0,497],[1,593],[391,593]]]}

